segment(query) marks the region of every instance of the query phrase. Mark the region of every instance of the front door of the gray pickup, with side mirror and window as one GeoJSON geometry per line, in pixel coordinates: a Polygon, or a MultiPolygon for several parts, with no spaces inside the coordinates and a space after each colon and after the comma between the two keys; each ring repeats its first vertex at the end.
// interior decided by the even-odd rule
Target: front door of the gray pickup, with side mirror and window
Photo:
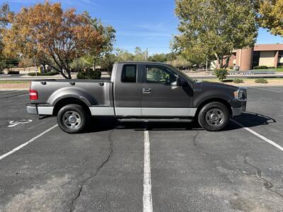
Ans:
{"type": "MultiPolygon", "coordinates": [[[[142,117],[192,117],[192,88],[178,73],[161,65],[144,65],[141,83],[142,117]]],[[[187,81],[186,81],[187,82],[187,81]]]]}

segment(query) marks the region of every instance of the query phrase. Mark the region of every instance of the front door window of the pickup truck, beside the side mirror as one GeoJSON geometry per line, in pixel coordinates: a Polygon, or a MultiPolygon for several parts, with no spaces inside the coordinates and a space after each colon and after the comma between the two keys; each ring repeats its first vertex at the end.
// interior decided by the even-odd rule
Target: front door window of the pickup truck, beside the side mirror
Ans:
{"type": "Polygon", "coordinates": [[[177,80],[177,75],[160,66],[146,66],[146,83],[161,83],[171,85],[177,80]]]}

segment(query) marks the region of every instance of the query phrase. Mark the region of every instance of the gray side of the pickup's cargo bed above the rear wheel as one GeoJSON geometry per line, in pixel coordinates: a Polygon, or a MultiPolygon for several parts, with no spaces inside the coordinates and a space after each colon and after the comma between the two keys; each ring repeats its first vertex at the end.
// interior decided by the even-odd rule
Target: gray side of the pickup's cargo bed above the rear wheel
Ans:
{"type": "Polygon", "coordinates": [[[54,106],[62,98],[80,97],[90,107],[113,105],[110,79],[41,79],[32,81],[30,88],[38,93],[38,100],[31,103],[54,106]]]}

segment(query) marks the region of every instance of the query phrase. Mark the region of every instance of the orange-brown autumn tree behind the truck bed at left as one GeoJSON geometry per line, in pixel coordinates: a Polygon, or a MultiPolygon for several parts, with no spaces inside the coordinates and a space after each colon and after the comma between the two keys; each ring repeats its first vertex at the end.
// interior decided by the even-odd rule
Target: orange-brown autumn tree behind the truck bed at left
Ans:
{"type": "Polygon", "coordinates": [[[10,18],[11,28],[4,35],[4,52],[13,57],[34,58],[71,78],[71,61],[105,50],[105,38],[87,13],[74,8],[63,11],[61,4],[36,4],[22,8],[10,18]],[[64,73],[67,72],[67,75],[64,73]]]}

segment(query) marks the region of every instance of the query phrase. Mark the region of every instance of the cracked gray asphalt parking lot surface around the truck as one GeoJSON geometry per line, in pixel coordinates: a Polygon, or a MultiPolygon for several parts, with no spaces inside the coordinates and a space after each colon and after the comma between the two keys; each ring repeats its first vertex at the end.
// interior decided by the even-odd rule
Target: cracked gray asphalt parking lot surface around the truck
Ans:
{"type": "Polygon", "coordinates": [[[0,211],[282,211],[283,87],[249,88],[221,132],[93,119],[70,135],[27,102],[0,92],[0,211]]]}

